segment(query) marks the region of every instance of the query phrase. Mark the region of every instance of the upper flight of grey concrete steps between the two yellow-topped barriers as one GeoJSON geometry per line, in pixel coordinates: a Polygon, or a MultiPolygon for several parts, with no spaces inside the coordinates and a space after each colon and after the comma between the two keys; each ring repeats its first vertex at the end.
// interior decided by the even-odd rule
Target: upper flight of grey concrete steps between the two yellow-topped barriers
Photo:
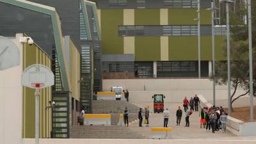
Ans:
{"type": "Polygon", "coordinates": [[[140,108],[131,102],[122,100],[93,100],[92,113],[124,113],[125,107],[129,113],[138,113],[140,108]]]}

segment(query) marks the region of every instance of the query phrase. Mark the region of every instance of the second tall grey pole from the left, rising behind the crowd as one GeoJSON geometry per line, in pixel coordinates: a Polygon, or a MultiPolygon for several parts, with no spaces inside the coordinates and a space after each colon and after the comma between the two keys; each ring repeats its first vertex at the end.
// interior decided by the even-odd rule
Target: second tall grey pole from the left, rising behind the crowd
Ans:
{"type": "Polygon", "coordinates": [[[215,12],[215,4],[212,4],[212,99],[213,99],[213,106],[215,104],[215,30],[214,30],[214,12],[215,12]]]}

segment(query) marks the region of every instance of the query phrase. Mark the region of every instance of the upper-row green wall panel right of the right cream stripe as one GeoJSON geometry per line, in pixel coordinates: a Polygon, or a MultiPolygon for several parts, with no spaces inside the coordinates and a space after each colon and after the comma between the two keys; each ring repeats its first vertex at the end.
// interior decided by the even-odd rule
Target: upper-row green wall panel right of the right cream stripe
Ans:
{"type": "MultiPolygon", "coordinates": [[[[173,8],[168,9],[169,25],[196,25],[196,8],[173,8]]],[[[201,24],[211,24],[211,12],[209,10],[200,10],[201,24]]]]}

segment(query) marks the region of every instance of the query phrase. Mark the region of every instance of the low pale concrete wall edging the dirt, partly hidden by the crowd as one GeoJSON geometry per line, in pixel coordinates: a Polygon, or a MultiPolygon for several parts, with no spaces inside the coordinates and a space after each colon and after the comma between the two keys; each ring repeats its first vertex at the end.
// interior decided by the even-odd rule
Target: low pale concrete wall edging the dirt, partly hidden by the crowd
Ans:
{"type": "MultiPolygon", "coordinates": [[[[202,95],[198,95],[200,106],[210,108],[212,104],[208,102],[202,95]]],[[[256,136],[256,122],[244,123],[241,120],[228,116],[227,131],[232,132],[236,136],[256,136]]]]}

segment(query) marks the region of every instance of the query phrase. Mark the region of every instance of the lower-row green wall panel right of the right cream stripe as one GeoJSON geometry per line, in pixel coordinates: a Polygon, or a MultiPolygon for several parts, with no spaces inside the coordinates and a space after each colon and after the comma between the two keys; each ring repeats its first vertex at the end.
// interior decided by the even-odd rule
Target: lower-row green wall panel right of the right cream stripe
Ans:
{"type": "MultiPolygon", "coordinates": [[[[216,60],[225,60],[221,44],[225,37],[216,36],[216,60]]],[[[197,61],[197,36],[169,36],[170,61],[197,61]]],[[[201,36],[201,60],[212,60],[211,36],[201,36]]]]}

